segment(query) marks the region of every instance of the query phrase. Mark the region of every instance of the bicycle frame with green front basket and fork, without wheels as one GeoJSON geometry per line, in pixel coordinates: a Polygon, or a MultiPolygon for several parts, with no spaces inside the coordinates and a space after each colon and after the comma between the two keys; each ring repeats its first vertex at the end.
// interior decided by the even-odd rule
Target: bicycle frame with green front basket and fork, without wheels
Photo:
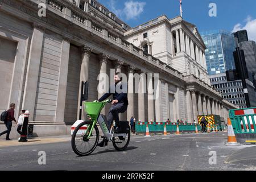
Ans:
{"type": "Polygon", "coordinates": [[[85,103],[85,110],[88,113],[88,115],[92,118],[91,119],[92,125],[90,125],[86,130],[86,134],[89,133],[86,137],[87,139],[90,139],[90,137],[92,136],[93,128],[97,122],[104,133],[104,137],[106,137],[108,140],[112,140],[113,137],[121,137],[121,136],[126,137],[126,134],[114,134],[115,122],[112,123],[109,131],[108,127],[106,126],[104,118],[102,117],[102,115],[100,115],[101,110],[105,107],[105,105],[108,102],[110,102],[110,100],[105,100],[103,102],[86,102],[85,103]]]}

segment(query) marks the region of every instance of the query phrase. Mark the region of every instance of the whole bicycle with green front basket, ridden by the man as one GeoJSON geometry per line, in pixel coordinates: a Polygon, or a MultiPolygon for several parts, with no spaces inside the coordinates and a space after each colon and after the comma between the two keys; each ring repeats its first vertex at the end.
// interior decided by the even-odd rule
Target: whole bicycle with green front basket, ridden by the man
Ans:
{"type": "Polygon", "coordinates": [[[130,126],[128,122],[121,122],[122,133],[116,134],[114,133],[115,122],[112,123],[109,129],[105,115],[100,114],[104,106],[111,102],[112,100],[85,103],[85,111],[91,119],[80,123],[72,134],[71,145],[77,155],[89,155],[97,147],[100,133],[96,123],[100,126],[104,137],[108,141],[112,141],[117,151],[123,151],[127,148],[130,142],[130,126]]]}

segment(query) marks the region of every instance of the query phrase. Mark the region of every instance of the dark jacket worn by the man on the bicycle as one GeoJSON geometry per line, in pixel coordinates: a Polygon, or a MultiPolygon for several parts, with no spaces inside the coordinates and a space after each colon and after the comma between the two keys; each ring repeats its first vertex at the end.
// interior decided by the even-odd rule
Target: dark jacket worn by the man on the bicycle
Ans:
{"type": "Polygon", "coordinates": [[[122,81],[116,82],[114,85],[109,87],[109,92],[105,93],[98,101],[102,102],[109,96],[113,95],[114,100],[118,100],[118,103],[128,105],[127,97],[127,84],[122,81]],[[120,91],[120,92],[119,92],[120,91]]]}

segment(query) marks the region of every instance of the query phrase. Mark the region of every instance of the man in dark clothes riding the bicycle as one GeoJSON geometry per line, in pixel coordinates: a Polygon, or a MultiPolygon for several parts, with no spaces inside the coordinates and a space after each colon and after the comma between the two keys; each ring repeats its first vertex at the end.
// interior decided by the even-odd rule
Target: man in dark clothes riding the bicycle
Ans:
{"type": "MultiPolygon", "coordinates": [[[[115,133],[121,132],[121,126],[119,122],[119,113],[124,113],[128,107],[128,98],[127,98],[127,84],[122,82],[122,78],[119,78],[118,73],[115,73],[114,76],[114,85],[111,85],[109,92],[105,93],[98,101],[102,102],[106,100],[109,96],[113,96],[112,106],[109,109],[109,114],[107,117],[108,127],[112,125],[112,122],[115,121],[115,133]],[[114,93],[111,91],[114,90],[114,93]],[[118,92],[117,92],[118,91],[118,92]]],[[[103,147],[108,145],[108,140],[104,137],[102,142],[98,143],[98,146],[103,147]]]]}

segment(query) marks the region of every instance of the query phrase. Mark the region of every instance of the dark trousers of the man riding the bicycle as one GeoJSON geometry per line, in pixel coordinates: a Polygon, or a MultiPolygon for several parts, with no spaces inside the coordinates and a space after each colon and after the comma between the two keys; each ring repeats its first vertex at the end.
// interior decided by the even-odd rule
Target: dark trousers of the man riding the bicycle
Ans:
{"type": "Polygon", "coordinates": [[[126,104],[123,103],[117,103],[110,107],[109,114],[108,114],[108,124],[109,126],[112,125],[112,122],[115,121],[115,125],[119,126],[119,113],[124,113],[127,110],[126,104]]]}

